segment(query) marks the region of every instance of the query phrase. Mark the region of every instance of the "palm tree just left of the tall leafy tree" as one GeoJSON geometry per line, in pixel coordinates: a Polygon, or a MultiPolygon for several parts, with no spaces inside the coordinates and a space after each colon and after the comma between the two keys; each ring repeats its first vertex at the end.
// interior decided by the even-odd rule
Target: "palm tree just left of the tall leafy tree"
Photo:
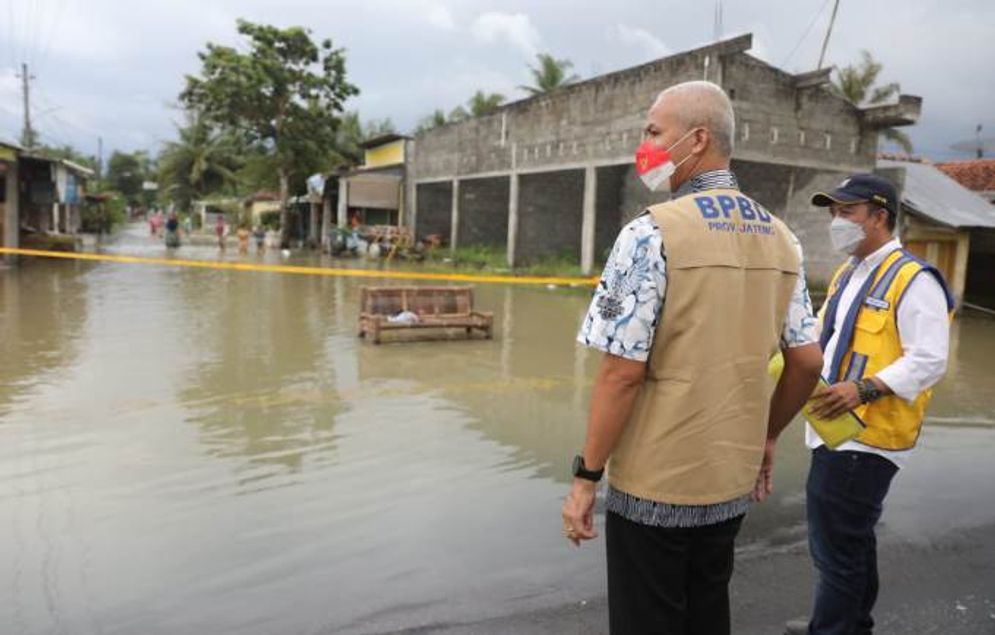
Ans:
{"type": "Polygon", "coordinates": [[[244,148],[236,135],[211,127],[194,112],[186,114],[179,138],[159,153],[161,192],[182,210],[191,201],[237,185],[237,171],[245,163],[244,148]]]}

